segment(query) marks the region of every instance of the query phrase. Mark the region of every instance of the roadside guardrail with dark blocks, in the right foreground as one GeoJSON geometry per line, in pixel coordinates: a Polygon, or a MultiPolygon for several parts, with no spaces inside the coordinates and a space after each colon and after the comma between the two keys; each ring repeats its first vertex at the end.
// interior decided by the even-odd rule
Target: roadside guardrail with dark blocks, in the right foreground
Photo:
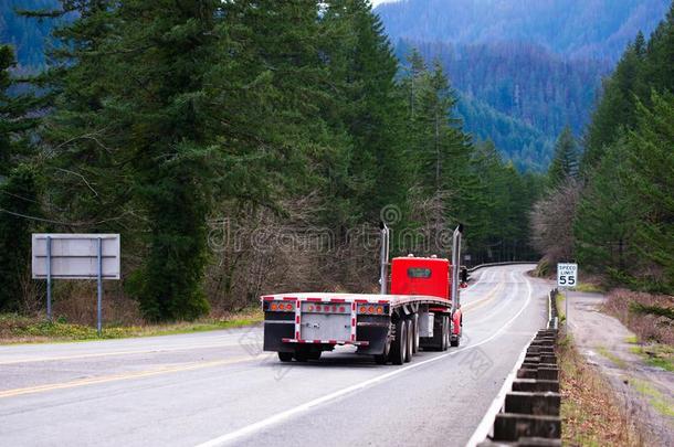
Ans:
{"type": "Polygon", "coordinates": [[[561,446],[556,295],[557,289],[548,294],[547,329],[539,330],[525,349],[510,375],[510,391],[501,403],[492,432],[478,447],[561,446]]]}

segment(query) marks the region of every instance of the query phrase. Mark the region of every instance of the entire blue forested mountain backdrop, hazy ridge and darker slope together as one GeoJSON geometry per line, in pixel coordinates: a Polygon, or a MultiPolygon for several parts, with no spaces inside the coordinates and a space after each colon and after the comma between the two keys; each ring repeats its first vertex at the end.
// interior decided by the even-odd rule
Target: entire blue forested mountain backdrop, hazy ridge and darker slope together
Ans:
{"type": "Polygon", "coordinates": [[[601,78],[667,0],[409,0],[377,8],[401,60],[439,58],[467,131],[491,138],[520,169],[545,170],[565,126],[589,123],[601,78]]]}

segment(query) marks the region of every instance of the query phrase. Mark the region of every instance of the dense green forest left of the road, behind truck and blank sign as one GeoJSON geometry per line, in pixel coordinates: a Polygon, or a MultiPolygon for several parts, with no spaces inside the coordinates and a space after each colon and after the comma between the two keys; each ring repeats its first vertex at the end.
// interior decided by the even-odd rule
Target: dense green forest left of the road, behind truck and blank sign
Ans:
{"type": "MultiPolygon", "coordinates": [[[[397,254],[446,255],[461,222],[473,263],[533,256],[540,178],[471,139],[441,64],[399,66],[369,2],[162,4],[33,12],[71,20],[28,85],[2,46],[0,309],[43,302],[41,231],[120,233],[106,296],[147,320],[371,290],[380,219],[397,254]]],[[[57,313],[86,291],[54,294],[57,313]]]]}

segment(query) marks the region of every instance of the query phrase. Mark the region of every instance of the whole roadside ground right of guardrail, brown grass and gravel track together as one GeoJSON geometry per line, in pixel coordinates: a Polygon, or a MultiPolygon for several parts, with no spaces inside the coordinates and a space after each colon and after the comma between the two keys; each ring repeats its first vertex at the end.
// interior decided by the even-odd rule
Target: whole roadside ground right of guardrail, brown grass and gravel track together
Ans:
{"type": "Polygon", "coordinates": [[[600,294],[558,296],[565,441],[673,445],[674,374],[635,353],[635,334],[601,311],[605,302],[600,294]]]}

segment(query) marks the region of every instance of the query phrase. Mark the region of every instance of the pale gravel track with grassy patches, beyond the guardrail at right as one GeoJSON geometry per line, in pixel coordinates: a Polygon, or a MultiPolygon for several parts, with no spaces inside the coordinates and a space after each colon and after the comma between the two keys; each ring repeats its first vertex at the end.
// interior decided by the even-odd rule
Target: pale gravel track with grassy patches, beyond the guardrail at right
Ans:
{"type": "MultiPolygon", "coordinates": [[[[578,350],[605,374],[628,412],[644,427],[644,445],[674,445],[674,373],[633,353],[634,333],[602,313],[601,294],[568,291],[568,328],[578,350]]],[[[566,308],[567,304],[561,304],[566,308]]]]}

